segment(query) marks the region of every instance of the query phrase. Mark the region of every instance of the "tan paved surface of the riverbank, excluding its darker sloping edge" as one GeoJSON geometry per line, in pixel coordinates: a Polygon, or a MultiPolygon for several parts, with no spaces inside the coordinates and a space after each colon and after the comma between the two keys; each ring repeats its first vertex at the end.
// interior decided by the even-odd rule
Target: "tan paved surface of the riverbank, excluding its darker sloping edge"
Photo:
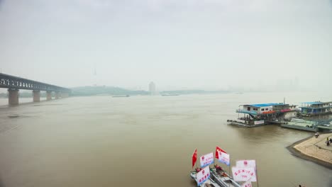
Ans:
{"type": "Polygon", "coordinates": [[[308,140],[295,145],[294,148],[309,157],[314,157],[332,164],[332,146],[326,146],[326,137],[328,137],[328,139],[330,137],[332,138],[332,133],[319,135],[318,138],[313,135],[313,137],[308,140]]]}

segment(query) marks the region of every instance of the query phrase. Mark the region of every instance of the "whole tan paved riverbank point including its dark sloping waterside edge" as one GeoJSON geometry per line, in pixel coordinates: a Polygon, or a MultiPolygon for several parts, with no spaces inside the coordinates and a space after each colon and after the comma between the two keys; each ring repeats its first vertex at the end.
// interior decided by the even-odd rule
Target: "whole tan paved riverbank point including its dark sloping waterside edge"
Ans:
{"type": "Polygon", "coordinates": [[[332,133],[319,135],[318,138],[314,135],[306,137],[289,145],[287,149],[296,157],[332,169],[332,146],[326,146],[326,137],[332,137],[332,133]]]}

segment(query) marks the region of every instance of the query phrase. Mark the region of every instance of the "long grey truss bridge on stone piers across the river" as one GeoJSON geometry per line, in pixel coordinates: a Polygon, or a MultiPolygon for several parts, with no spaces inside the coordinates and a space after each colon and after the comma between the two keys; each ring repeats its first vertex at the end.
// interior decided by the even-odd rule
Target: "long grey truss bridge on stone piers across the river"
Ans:
{"type": "Polygon", "coordinates": [[[45,84],[39,81],[15,77],[9,74],[0,73],[0,88],[8,89],[8,100],[10,106],[18,105],[19,89],[32,90],[33,102],[40,101],[40,91],[46,91],[46,100],[52,99],[52,92],[55,92],[55,98],[67,98],[71,90],[52,84],[45,84]]]}

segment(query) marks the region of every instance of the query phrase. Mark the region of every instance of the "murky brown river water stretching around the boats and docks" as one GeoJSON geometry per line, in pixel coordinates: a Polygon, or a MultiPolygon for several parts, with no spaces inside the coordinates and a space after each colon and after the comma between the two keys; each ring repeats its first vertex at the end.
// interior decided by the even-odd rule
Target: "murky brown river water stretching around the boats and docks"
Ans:
{"type": "Polygon", "coordinates": [[[0,186],[196,186],[189,178],[191,154],[216,146],[231,154],[232,164],[256,159],[260,187],[332,186],[331,170],[285,148],[311,132],[226,125],[239,104],[284,96],[289,103],[332,101],[307,93],[216,94],[1,106],[0,186]]]}

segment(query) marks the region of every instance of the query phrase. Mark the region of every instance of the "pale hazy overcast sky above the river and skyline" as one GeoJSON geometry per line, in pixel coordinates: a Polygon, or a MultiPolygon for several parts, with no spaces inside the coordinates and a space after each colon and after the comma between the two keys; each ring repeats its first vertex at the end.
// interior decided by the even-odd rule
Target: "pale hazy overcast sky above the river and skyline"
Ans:
{"type": "Polygon", "coordinates": [[[0,68],[58,86],[227,89],[297,77],[331,88],[332,1],[0,0],[0,68]]]}

